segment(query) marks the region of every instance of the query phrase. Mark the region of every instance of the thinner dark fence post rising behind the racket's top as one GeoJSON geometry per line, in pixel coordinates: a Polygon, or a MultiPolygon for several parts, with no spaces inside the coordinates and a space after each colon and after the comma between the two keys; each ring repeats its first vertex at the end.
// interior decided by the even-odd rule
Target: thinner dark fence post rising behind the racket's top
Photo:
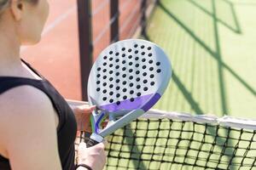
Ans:
{"type": "Polygon", "coordinates": [[[119,0],[110,1],[110,41],[119,40],[119,0]]]}

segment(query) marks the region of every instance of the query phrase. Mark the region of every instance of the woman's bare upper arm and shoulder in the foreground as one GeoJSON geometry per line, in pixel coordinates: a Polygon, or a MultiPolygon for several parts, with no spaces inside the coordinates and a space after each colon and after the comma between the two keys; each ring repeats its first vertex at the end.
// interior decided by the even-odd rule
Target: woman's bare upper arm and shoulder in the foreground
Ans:
{"type": "Polygon", "coordinates": [[[12,169],[61,170],[55,110],[37,88],[14,88],[0,97],[0,145],[12,169]]]}

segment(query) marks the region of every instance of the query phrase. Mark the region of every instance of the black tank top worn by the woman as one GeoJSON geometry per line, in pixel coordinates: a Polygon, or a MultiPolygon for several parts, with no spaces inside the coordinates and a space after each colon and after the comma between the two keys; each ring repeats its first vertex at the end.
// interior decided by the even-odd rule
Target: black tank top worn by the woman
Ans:
{"type": "MultiPolygon", "coordinates": [[[[32,71],[38,74],[42,80],[34,80],[21,77],[0,77],[0,95],[11,88],[22,85],[29,85],[38,88],[46,94],[55,107],[55,111],[59,116],[59,126],[57,127],[58,150],[61,158],[61,166],[63,170],[74,169],[74,140],[76,138],[77,123],[73,115],[73,111],[67,105],[67,102],[61,94],[44,78],[38,71],[35,71],[30,65],[23,61],[32,71]]],[[[0,113],[1,115],[1,113],[0,113]]],[[[10,170],[9,160],[0,156],[0,169],[10,170]]]]}

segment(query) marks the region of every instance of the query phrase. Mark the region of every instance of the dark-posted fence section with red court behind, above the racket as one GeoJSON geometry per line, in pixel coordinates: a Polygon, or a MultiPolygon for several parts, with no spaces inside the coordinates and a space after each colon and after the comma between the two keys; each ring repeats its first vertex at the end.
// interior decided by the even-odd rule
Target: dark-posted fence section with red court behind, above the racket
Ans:
{"type": "Polygon", "coordinates": [[[157,0],[78,0],[82,98],[96,56],[110,43],[143,33],[157,0]]]}

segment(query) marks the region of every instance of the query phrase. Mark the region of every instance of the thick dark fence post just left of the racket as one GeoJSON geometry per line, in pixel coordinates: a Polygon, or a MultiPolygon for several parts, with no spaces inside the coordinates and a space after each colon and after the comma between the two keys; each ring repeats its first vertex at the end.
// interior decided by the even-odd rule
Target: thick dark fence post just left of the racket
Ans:
{"type": "Polygon", "coordinates": [[[82,99],[87,101],[87,81],[92,66],[91,0],[77,0],[79,16],[79,53],[82,99]]]}

